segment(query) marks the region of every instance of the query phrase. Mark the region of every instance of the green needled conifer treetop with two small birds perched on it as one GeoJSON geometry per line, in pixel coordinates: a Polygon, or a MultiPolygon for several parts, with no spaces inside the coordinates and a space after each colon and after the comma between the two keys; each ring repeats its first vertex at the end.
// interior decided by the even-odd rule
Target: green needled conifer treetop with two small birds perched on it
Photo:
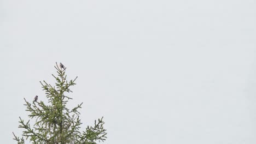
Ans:
{"type": "Polygon", "coordinates": [[[25,139],[32,143],[47,143],[47,144],[73,144],[84,143],[94,144],[96,142],[106,140],[106,129],[103,128],[102,118],[95,120],[93,127],[87,127],[84,131],[80,130],[82,124],[79,118],[79,109],[82,104],[78,104],[73,109],[66,107],[69,99],[66,94],[72,92],[69,87],[75,85],[74,80],[68,81],[66,79],[65,71],[55,66],[57,76],[53,77],[56,80],[55,86],[51,86],[47,82],[40,82],[45,91],[48,104],[43,101],[33,102],[32,104],[25,100],[26,111],[30,112],[30,119],[35,119],[33,126],[30,121],[24,122],[20,118],[19,128],[23,129],[22,137],[16,136],[14,133],[14,140],[18,144],[24,144],[25,139]]]}

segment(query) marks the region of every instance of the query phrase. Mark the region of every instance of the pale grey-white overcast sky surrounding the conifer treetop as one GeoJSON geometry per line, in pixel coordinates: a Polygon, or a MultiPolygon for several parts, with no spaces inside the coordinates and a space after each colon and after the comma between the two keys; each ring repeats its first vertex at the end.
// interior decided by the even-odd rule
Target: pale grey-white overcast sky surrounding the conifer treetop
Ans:
{"type": "Polygon", "coordinates": [[[256,143],[251,0],[0,0],[1,143],[55,62],[105,143],[256,143]]]}

